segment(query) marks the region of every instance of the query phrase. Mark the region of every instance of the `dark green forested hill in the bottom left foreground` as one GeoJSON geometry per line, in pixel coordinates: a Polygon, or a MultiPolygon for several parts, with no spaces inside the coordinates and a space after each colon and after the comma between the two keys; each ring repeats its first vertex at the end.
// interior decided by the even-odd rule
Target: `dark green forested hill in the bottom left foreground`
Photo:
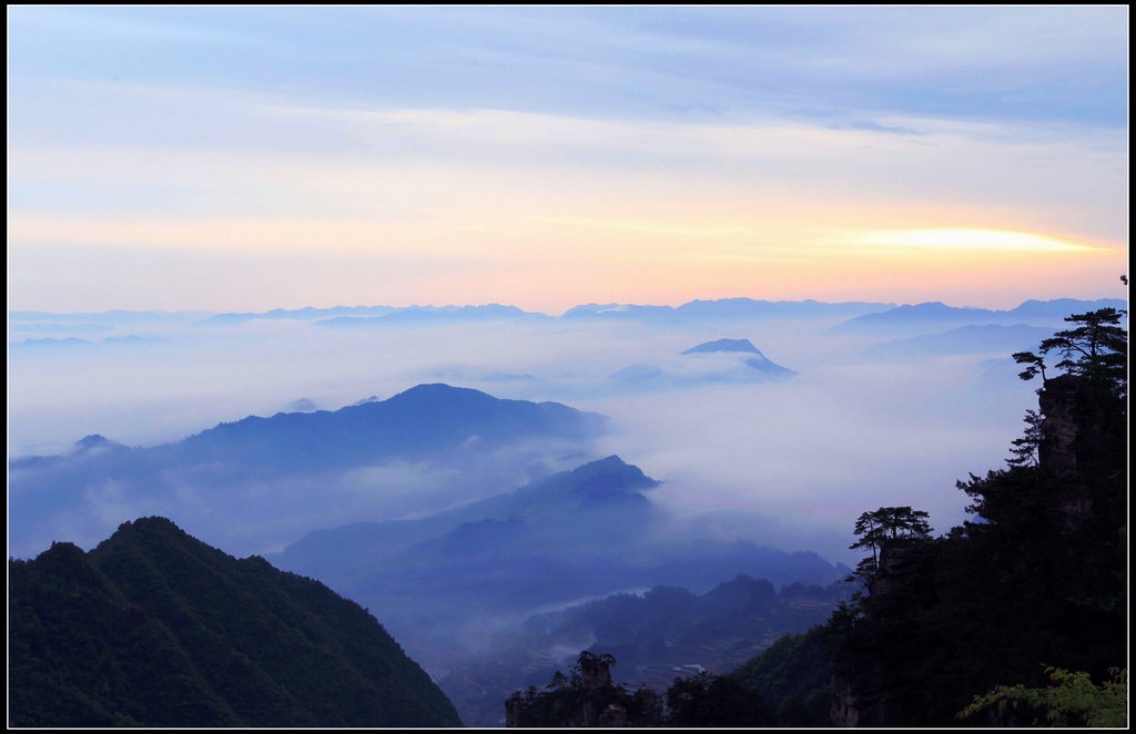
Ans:
{"type": "Polygon", "coordinates": [[[9,726],[460,726],[365,609],[164,518],[8,562],[9,726]]]}

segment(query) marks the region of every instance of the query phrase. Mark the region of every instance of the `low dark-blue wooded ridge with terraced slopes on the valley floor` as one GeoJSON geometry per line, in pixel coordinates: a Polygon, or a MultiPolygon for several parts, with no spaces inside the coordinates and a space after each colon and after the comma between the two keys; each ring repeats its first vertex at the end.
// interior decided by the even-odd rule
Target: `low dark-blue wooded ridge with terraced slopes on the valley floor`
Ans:
{"type": "MultiPolygon", "coordinates": [[[[850,594],[851,585],[843,582],[827,587],[790,584],[777,591],[770,582],[745,575],[719,583],[704,594],[678,586],[613,594],[529,617],[511,633],[494,637],[490,652],[471,657],[438,684],[468,726],[499,724],[502,699],[549,681],[579,650],[615,657],[619,665],[611,668],[612,679],[628,691],[648,686],[662,693],[676,677],[699,672],[725,674],[771,644],[782,645],[777,642],[780,635],[820,624],[850,594]]],[[[820,664],[822,679],[818,683],[813,672],[803,681],[804,690],[797,681],[790,681],[800,676],[786,675],[782,695],[768,699],[772,711],[803,708],[811,695],[819,698],[821,715],[808,720],[790,716],[785,722],[826,724],[832,677],[825,670],[826,662],[820,664]],[[819,697],[813,694],[816,687],[824,689],[819,697]]],[[[803,670],[794,669],[799,673],[803,670]]],[[[754,701],[761,699],[757,693],[749,695],[754,701]]],[[[810,704],[817,708],[816,701],[810,704]]],[[[545,724],[538,719],[531,723],[545,724]]],[[[732,718],[728,723],[752,722],[732,718]]]]}

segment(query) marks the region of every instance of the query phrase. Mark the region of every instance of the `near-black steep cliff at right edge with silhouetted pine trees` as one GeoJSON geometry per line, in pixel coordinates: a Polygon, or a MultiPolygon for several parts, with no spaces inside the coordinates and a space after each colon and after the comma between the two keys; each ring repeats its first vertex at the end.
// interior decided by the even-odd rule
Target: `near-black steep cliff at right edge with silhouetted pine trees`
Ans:
{"type": "Polygon", "coordinates": [[[1039,353],[1014,355],[1024,379],[1043,377],[1038,410],[1019,460],[959,483],[972,520],[888,549],[896,508],[860,517],[868,593],[827,626],[851,723],[958,725],[976,694],[1043,691],[1046,666],[1101,685],[1127,667],[1125,314],[1070,316],[1039,353]],[[900,552],[885,561],[885,549],[900,552]]]}

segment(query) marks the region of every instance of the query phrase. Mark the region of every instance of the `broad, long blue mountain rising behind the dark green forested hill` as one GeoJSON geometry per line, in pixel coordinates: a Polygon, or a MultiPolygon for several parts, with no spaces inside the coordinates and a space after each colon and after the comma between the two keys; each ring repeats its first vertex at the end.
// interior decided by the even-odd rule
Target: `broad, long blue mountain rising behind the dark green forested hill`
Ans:
{"type": "Polygon", "coordinates": [[[152,448],[89,436],[61,457],[9,462],[9,549],[93,542],[161,512],[260,552],[317,527],[452,507],[575,466],[604,425],[560,403],[427,384],[335,411],[250,416],[152,448]]]}

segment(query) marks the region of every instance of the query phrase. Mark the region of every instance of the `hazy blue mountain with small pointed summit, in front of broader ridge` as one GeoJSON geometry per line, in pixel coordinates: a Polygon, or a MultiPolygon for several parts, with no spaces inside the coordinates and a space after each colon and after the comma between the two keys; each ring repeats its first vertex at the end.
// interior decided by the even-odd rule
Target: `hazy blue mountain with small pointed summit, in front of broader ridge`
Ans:
{"type": "Polygon", "coordinates": [[[657,485],[612,456],[427,517],[314,532],[269,559],[368,606],[433,660],[462,631],[629,589],[840,577],[815,553],[680,531],[651,501],[657,485]]]}

